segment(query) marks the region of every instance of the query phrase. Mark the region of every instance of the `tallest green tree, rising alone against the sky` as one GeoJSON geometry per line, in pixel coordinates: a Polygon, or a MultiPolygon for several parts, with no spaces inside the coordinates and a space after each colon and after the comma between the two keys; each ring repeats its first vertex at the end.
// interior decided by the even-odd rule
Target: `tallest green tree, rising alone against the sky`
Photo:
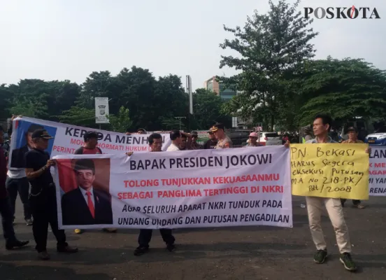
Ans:
{"type": "Polygon", "coordinates": [[[293,5],[285,0],[277,5],[269,1],[269,12],[260,15],[255,11],[243,29],[224,27],[236,38],[226,39],[220,47],[235,50],[238,56],[222,56],[220,68],[229,66],[242,71],[230,79],[222,78],[241,91],[224,111],[243,119],[253,118],[270,129],[292,114],[287,106],[294,99],[292,94],[296,94],[291,78],[301,71],[304,59],[314,56],[309,41],[317,36],[308,28],[313,20],[296,11],[298,4],[299,0],[293,5]]]}

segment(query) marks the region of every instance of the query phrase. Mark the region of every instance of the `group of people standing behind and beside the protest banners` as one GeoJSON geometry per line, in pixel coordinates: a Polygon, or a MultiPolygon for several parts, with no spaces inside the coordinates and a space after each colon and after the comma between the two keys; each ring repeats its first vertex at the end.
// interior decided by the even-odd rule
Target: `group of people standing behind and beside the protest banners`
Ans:
{"type": "MultiPolygon", "coordinates": [[[[306,144],[328,144],[336,143],[331,137],[329,137],[329,131],[331,130],[332,119],[326,114],[320,114],[315,116],[313,121],[313,134],[315,139],[308,139],[306,144]]],[[[143,131],[138,131],[138,134],[144,134],[143,131]]],[[[185,151],[185,150],[199,150],[199,149],[222,149],[231,148],[231,139],[224,131],[224,125],[217,123],[213,125],[208,131],[209,139],[205,144],[201,145],[197,143],[198,134],[196,132],[185,133],[179,130],[173,130],[170,132],[171,145],[166,151],[185,151]]],[[[355,139],[357,131],[355,127],[349,129],[349,139],[345,143],[360,143],[355,139]]],[[[2,143],[3,130],[0,130],[0,143],[2,143]]],[[[64,230],[58,229],[57,222],[57,205],[55,199],[55,186],[52,176],[50,174],[50,167],[55,165],[55,160],[50,160],[50,156],[45,149],[48,147],[48,141],[52,137],[46,130],[38,129],[31,133],[31,148],[25,155],[25,162],[23,163],[24,172],[22,167],[20,170],[13,170],[8,174],[8,181],[15,185],[15,179],[22,179],[17,181],[17,189],[24,186],[27,189],[27,183],[31,184],[31,190],[29,193],[29,204],[24,205],[24,218],[27,225],[31,225],[33,228],[34,239],[36,241],[36,250],[38,251],[39,258],[48,260],[50,255],[47,252],[47,232],[48,224],[51,225],[52,232],[57,238],[57,251],[62,253],[76,253],[78,248],[71,247],[66,243],[66,235],[64,230]],[[19,173],[17,173],[19,172],[19,173]],[[17,174],[17,175],[16,175],[17,174]],[[10,175],[10,176],[9,176],[10,175]],[[13,179],[13,180],[10,180],[13,179]],[[24,185],[22,185],[24,183],[24,185]],[[29,209],[31,211],[29,212],[29,209]],[[31,221],[31,216],[34,221],[31,221]]],[[[253,132],[250,134],[250,141],[248,146],[259,146],[257,143],[257,134],[253,132]]],[[[85,144],[80,147],[76,154],[99,154],[102,153],[101,149],[97,147],[99,135],[96,132],[87,132],[84,136],[85,144]]],[[[153,133],[148,137],[148,144],[151,152],[162,152],[162,135],[153,133]]],[[[290,142],[286,141],[285,147],[290,146],[290,142]]],[[[367,153],[371,153],[371,149],[366,150],[367,153]]],[[[132,153],[127,153],[131,155],[132,153]]],[[[25,246],[28,241],[19,241],[15,237],[13,230],[13,218],[14,207],[11,207],[10,200],[7,194],[6,186],[6,160],[3,157],[3,151],[0,148],[0,212],[3,221],[3,232],[6,238],[6,248],[12,249],[14,247],[25,246]]],[[[8,184],[8,187],[10,185],[8,184]]],[[[14,201],[14,200],[13,200],[14,201]]],[[[24,200],[26,201],[26,200],[24,200]]],[[[349,271],[357,270],[355,262],[351,257],[351,244],[348,235],[348,228],[345,223],[343,215],[343,204],[338,198],[324,198],[324,197],[306,197],[308,220],[310,226],[311,237],[317,248],[317,252],[314,255],[313,260],[322,264],[327,258],[327,243],[324,239],[324,234],[321,227],[322,209],[326,208],[331,223],[334,226],[336,232],[336,240],[338,244],[341,257],[339,260],[343,263],[345,269],[349,271]]],[[[115,232],[116,229],[106,229],[108,232],[115,232]]],[[[175,237],[173,237],[171,229],[160,230],[162,239],[166,243],[166,248],[169,251],[174,251],[175,237]]],[[[80,233],[80,232],[77,232],[80,233]]],[[[140,230],[138,237],[138,247],[134,251],[134,255],[142,255],[149,249],[149,243],[152,237],[152,230],[140,230]]]]}

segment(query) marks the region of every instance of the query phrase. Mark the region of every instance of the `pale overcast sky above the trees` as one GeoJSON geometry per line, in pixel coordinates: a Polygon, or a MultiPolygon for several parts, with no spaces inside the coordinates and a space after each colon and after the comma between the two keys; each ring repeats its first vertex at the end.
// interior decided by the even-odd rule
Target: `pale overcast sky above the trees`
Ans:
{"type": "MultiPolygon", "coordinates": [[[[277,2],[276,0],[275,2],[277,2]]],[[[386,1],[303,0],[303,7],[366,6],[380,20],[315,20],[316,58],[362,57],[386,69],[386,1]]],[[[192,76],[193,88],[220,69],[219,48],[268,0],[0,0],[0,83],[22,78],[83,83],[92,71],[114,75],[135,65],[156,76],[192,76]]]]}

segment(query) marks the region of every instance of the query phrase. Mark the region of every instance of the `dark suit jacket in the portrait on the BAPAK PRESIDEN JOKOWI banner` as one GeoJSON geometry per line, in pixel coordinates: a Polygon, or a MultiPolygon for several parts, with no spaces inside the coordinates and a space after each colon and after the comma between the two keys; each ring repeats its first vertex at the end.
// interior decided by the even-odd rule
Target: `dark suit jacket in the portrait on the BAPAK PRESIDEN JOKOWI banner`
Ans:
{"type": "Polygon", "coordinates": [[[94,200],[95,218],[92,218],[79,188],[64,194],[62,197],[63,225],[112,225],[113,211],[110,195],[94,188],[94,200]]]}

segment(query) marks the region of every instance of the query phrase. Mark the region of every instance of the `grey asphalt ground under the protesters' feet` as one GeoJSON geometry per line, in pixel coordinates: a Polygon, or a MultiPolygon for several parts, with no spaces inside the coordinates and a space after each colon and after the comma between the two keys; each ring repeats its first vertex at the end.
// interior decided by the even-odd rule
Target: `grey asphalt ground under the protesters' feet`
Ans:
{"type": "Polygon", "coordinates": [[[6,251],[0,241],[1,280],[123,280],[123,279],[386,279],[386,197],[371,197],[369,207],[356,209],[346,202],[345,217],[350,230],[353,257],[359,271],[345,271],[338,260],[334,230],[324,217],[323,228],[329,244],[329,259],[313,262],[315,246],[310,239],[306,209],[294,197],[294,228],[241,227],[176,230],[177,251],[164,248],[158,232],[150,251],[133,255],[138,230],[115,234],[93,230],[83,235],[68,231],[73,255],[55,251],[50,233],[51,260],[38,260],[31,227],[24,225],[22,207],[17,205],[15,231],[31,245],[6,251]]]}

